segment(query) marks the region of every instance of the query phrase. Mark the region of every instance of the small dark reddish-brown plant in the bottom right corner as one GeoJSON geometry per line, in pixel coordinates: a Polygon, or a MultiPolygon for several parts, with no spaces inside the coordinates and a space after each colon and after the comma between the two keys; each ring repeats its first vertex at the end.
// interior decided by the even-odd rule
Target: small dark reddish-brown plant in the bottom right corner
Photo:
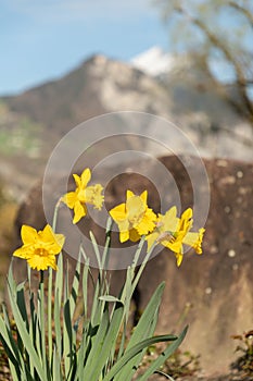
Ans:
{"type": "Polygon", "coordinates": [[[244,332],[242,335],[232,335],[231,337],[240,342],[236,352],[242,354],[231,364],[231,369],[243,372],[245,376],[253,376],[253,330],[244,332]]]}

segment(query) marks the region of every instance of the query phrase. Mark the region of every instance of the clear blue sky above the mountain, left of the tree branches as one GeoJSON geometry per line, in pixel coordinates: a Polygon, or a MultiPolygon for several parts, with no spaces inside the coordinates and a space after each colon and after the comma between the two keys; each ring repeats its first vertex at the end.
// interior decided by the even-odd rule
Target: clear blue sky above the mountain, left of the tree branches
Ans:
{"type": "Polygon", "coordinates": [[[0,0],[0,95],[60,77],[93,53],[127,61],[166,28],[152,0],[0,0]]]}

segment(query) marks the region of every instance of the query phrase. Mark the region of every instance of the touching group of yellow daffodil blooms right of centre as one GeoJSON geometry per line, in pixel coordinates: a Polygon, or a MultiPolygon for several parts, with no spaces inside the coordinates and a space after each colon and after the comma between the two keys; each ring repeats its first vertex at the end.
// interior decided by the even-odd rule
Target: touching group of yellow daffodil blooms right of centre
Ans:
{"type": "Polygon", "coordinates": [[[156,216],[148,207],[147,197],[147,190],[140,196],[127,190],[126,202],[110,211],[118,225],[119,241],[137,242],[146,235],[148,251],[161,244],[175,253],[177,266],[182,261],[182,244],[193,247],[197,254],[202,254],[201,244],[205,230],[201,228],[198,233],[189,232],[193,223],[192,209],[187,209],[180,218],[177,217],[176,207],[172,207],[165,214],[156,216]]]}

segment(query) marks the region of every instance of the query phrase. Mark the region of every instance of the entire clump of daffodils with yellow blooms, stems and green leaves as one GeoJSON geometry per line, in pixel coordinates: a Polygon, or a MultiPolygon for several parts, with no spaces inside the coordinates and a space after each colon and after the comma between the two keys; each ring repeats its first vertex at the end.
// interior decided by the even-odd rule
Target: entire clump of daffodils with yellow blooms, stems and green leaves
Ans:
{"type": "MultiPolygon", "coordinates": [[[[97,278],[93,279],[88,253],[80,245],[74,278],[68,279],[68,271],[64,270],[67,270],[67,263],[64,266],[61,253],[67,237],[55,232],[58,210],[62,202],[73,209],[73,223],[88,213],[87,204],[100,210],[103,187],[100,184],[88,186],[90,177],[89,169],[80,176],[74,175],[76,189],[56,204],[52,228],[47,224],[37,232],[31,226],[22,226],[23,246],[14,251],[14,256],[27,261],[27,281],[16,284],[10,266],[8,292],[11,310],[3,304],[0,316],[0,339],[13,381],[130,381],[134,376],[144,381],[152,373],[161,372],[161,367],[177,351],[187,333],[186,327],[179,335],[154,335],[164,283],[155,290],[130,336],[127,327],[134,292],[156,245],[162,244],[173,250],[178,266],[184,257],[184,243],[192,246],[198,254],[202,253],[204,230],[189,232],[192,226],[190,208],[180,218],[176,216],[176,207],[164,216],[156,216],[148,207],[147,190],[140,196],[127,190],[126,202],[109,212],[111,217],[102,253],[90,232],[99,270],[97,278]],[[126,270],[125,283],[116,296],[111,294],[106,271],[113,220],[118,225],[121,242],[138,242],[132,263],[126,270]],[[148,249],[144,250],[147,241],[148,249]],[[144,259],[138,267],[143,250],[144,259]],[[40,274],[35,288],[31,269],[40,274]],[[93,296],[89,309],[90,278],[93,296]],[[77,306],[78,296],[84,305],[81,311],[77,306]],[[139,376],[147,349],[167,342],[139,376]]],[[[168,374],[161,374],[172,380],[168,374]]]]}

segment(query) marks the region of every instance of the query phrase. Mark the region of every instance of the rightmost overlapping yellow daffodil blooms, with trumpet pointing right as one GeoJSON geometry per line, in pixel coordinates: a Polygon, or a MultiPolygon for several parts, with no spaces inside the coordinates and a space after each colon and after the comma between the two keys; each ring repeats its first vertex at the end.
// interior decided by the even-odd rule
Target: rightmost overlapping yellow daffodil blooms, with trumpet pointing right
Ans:
{"type": "Polygon", "coordinates": [[[159,214],[155,230],[147,236],[148,250],[155,245],[161,244],[175,253],[177,266],[182,261],[182,244],[194,248],[197,254],[202,254],[202,239],[204,229],[201,228],[198,233],[189,232],[192,226],[192,209],[188,208],[181,218],[177,218],[177,208],[170,208],[164,216],[159,214]]]}

